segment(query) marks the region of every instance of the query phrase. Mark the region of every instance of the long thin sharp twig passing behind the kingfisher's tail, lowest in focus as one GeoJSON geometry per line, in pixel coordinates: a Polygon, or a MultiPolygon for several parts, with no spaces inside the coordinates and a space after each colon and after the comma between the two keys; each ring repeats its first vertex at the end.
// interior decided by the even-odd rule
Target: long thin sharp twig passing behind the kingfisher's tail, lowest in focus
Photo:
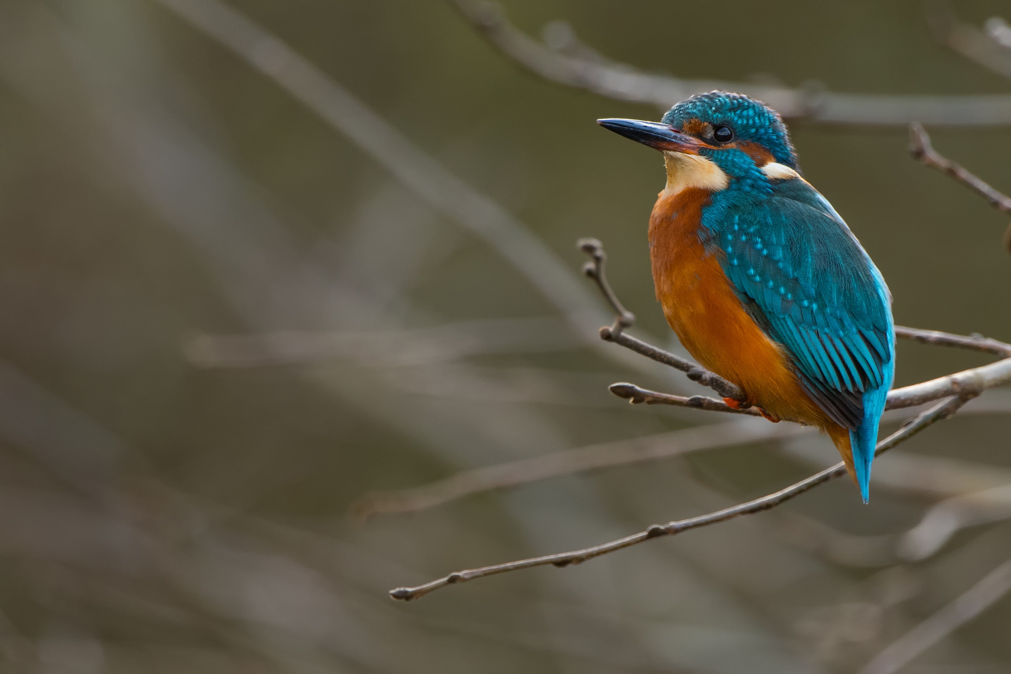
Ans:
{"type": "MultiPolygon", "coordinates": [[[[958,410],[959,407],[969,402],[969,400],[973,397],[975,397],[975,394],[973,393],[954,396],[923,412],[917,416],[915,420],[880,442],[878,444],[876,455],[887,452],[896,445],[909,440],[927,426],[951,416],[958,410]]],[[[417,599],[418,597],[424,596],[447,585],[463,583],[468,580],[474,580],[475,578],[484,578],[486,576],[492,576],[499,573],[519,571],[520,569],[530,569],[538,566],[552,565],[556,567],[566,567],[570,564],[581,564],[582,562],[594,557],[600,557],[624,548],[629,548],[643,543],[644,541],[664,536],[674,536],[692,528],[708,526],[710,524],[726,521],[740,515],[753,514],[755,512],[761,512],[763,510],[768,510],[769,508],[774,508],[777,505],[785,503],[792,498],[796,498],[797,496],[813,489],[814,487],[817,487],[820,484],[845,474],[846,467],[842,462],[839,462],[831,468],[812,475],[806,480],[802,480],[801,482],[773,494],[769,494],[746,503],[740,503],[729,508],[717,510],[716,512],[710,512],[708,514],[692,517],[690,519],[671,521],[666,524],[653,524],[644,532],[625,537],[624,539],[619,539],[618,541],[612,541],[611,543],[606,543],[604,545],[593,546],[591,548],[574,550],[567,553],[546,555],[544,557],[534,557],[531,559],[509,562],[505,564],[496,564],[478,569],[457,571],[440,578],[439,580],[434,580],[430,583],[419,585],[417,587],[398,587],[394,590],[390,590],[389,594],[394,599],[410,600],[417,599]]]]}

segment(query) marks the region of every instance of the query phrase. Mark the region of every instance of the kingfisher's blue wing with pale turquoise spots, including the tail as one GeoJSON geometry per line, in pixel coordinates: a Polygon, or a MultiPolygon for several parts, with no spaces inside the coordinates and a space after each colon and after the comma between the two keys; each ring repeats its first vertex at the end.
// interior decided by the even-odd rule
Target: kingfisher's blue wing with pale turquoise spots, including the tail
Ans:
{"type": "Polygon", "coordinates": [[[866,453],[871,422],[869,475],[878,419],[895,370],[888,287],[813,187],[793,179],[773,181],[772,188],[769,198],[727,204],[710,245],[719,246],[723,269],[745,309],[786,348],[811,397],[851,430],[854,455],[857,449],[866,453]]]}

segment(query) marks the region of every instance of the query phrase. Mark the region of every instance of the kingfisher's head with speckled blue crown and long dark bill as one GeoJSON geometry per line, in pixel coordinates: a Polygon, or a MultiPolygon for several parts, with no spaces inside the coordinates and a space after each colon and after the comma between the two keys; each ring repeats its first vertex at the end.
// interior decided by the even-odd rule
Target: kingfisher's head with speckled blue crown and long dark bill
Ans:
{"type": "Polygon", "coordinates": [[[659,122],[599,119],[616,133],[662,152],[668,177],[710,174],[745,178],[763,169],[769,177],[796,177],[797,155],[778,113],[725,91],[698,94],[670,108],[659,122]],[[715,167],[713,166],[715,165],[715,167]],[[782,168],[780,168],[782,167],[782,168]],[[718,171],[717,171],[718,169],[718,171]]]}

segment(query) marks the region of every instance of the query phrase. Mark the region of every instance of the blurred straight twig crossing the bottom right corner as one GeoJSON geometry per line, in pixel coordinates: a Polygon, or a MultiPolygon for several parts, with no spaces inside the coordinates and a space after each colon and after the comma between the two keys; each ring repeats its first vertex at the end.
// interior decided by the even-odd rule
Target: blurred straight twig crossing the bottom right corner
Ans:
{"type": "Polygon", "coordinates": [[[879,653],[859,674],[894,674],[1011,590],[1011,560],[879,653]]]}

